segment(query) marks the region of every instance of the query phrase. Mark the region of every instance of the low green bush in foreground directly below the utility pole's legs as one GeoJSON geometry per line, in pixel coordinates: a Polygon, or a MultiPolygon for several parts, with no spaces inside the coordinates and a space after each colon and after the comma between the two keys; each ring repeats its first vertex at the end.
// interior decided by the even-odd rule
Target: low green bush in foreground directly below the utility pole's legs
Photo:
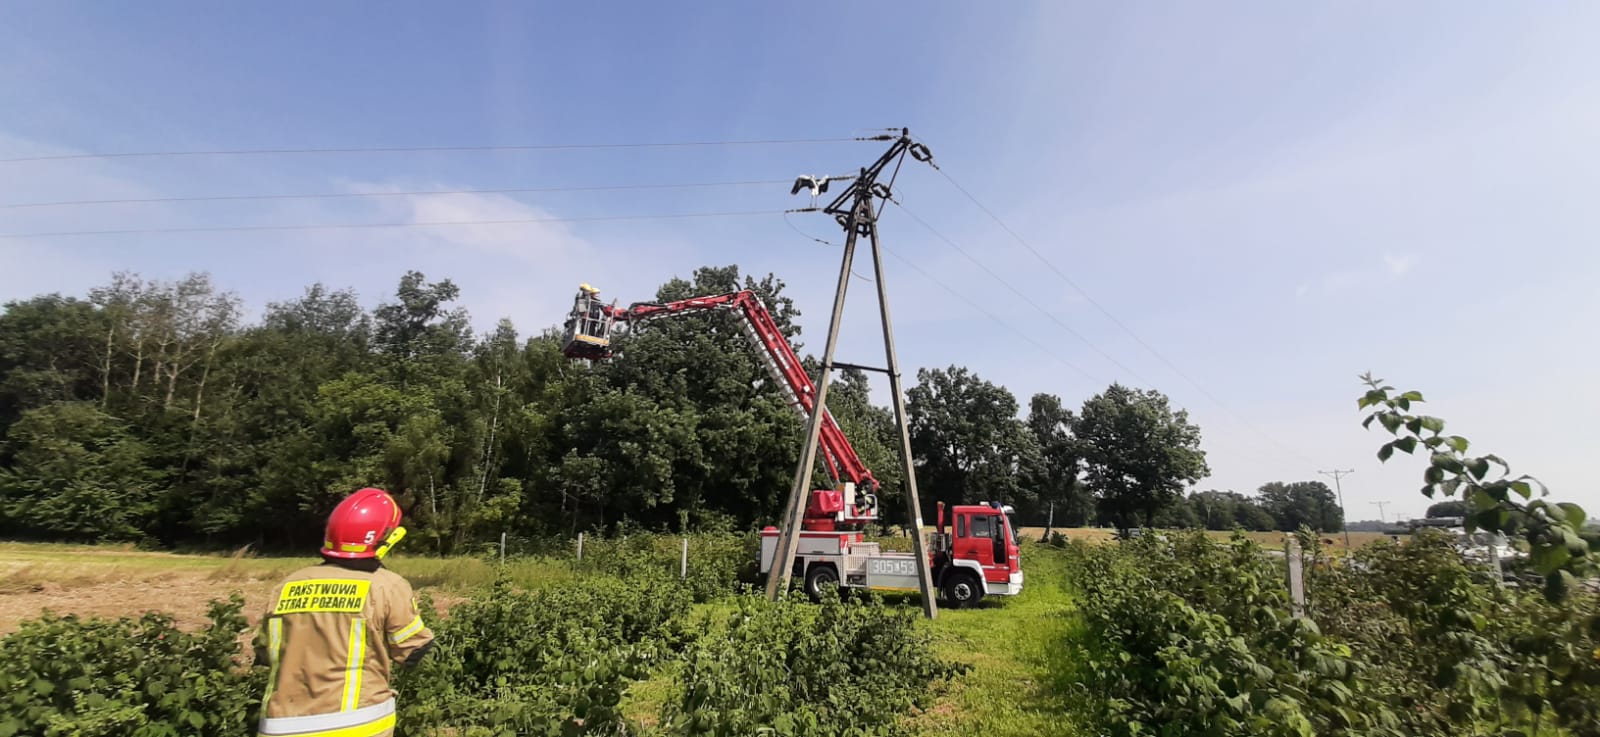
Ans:
{"type": "Polygon", "coordinates": [[[902,716],[926,705],[933,683],[966,668],[933,655],[914,611],[870,593],[821,606],[741,596],[720,627],[685,657],[669,734],[904,734],[902,716]]]}

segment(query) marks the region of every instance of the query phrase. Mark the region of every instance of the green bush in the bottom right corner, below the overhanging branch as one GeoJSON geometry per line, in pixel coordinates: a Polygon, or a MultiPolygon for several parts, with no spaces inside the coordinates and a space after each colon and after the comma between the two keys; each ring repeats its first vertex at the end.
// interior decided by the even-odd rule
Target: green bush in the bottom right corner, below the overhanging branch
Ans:
{"type": "Polygon", "coordinates": [[[1373,668],[1406,734],[1558,724],[1600,734],[1600,600],[1496,585],[1424,532],[1309,579],[1310,612],[1373,668]],[[1544,715],[1544,716],[1541,716],[1544,715]]]}

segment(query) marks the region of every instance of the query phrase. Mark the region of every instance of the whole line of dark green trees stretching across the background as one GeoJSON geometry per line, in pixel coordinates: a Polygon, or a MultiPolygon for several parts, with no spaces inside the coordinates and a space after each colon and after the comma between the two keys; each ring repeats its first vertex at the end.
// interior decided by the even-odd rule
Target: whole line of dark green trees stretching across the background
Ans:
{"type": "MultiPolygon", "coordinates": [[[[736,289],[802,349],[774,275],[702,267],[656,299],[736,289]]],[[[8,302],[0,534],[306,548],[360,486],[397,494],[440,553],[501,532],[776,523],[803,425],[736,317],[651,323],[590,366],[554,329],[474,334],[459,296],[408,272],[373,310],[314,285],[246,325],[208,275],[118,273],[83,297],[8,302]]],[[[882,481],[885,518],[906,518],[890,409],[859,371],[837,374],[829,408],[882,481]]],[[[1077,412],[1040,393],[1022,414],[950,366],[917,372],[907,412],[923,518],[941,500],[997,500],[1058,524],[1336,528],[1326,488],[1186,497],[1208,473],[1200,428],[1160,392],[1114,384],[1077,412]]]]}

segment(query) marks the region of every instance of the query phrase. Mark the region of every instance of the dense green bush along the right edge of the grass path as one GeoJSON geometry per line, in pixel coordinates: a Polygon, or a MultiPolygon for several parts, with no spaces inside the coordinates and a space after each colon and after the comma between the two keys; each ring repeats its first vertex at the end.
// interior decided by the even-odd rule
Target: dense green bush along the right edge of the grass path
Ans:
{"type": "Polygon", "coordinates": [[[1082,657],[1112,734],[1392,734],[1360,662],[1288,614],[1282,580],[1243,536],[1067,548],[1082,657]]]}

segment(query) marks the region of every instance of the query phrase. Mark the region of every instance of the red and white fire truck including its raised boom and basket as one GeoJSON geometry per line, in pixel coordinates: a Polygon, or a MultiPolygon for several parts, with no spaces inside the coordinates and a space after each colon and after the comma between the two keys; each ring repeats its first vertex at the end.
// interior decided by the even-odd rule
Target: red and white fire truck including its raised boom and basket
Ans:
{"type": "MultiPolygon", "coordinates": [[[[819,596],[826,587],[920,590],[914,553],[882,550],[877,542],[866,540],[866,526],[878,520],[878,481],[827,408],[816,406],[816,385],[755,293],[746,289],[662,304],[635,302],[627,307],[606,304],[598,294],[594,286],[579,286],[562,334],[562,352],[568,358],[610,358],[614,333],[637,329],[651,320],[725,312],[738,317],[744,336],[800,419],[810,422],[811,412],[822,412],[819,456],[832,486],[810,492],[794,563],[794,577],[805,582],[810,596],[819,596]]],[[[939,502],[934,532],[926,547],[933,585],[946,604],[962,608],[984,596],[1021,593],[1022,568],[1011,508],[989,502],[954,505],[949,508],[949,520],[946,512],[944,502],[939,502]],[[946,521],[950,523],[949,531],[946,521]]],[[[778,539],[778,528],[762,529],[762,574],[773,568],[778,539]]]]}

